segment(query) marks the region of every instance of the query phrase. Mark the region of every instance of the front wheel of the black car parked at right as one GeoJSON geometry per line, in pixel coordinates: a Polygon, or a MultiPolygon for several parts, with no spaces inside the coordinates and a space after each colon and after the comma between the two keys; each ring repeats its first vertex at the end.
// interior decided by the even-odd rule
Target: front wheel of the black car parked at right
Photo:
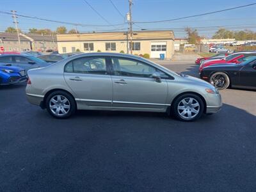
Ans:
{"type": "Polygon", "coordinates": [[[218,90],[225,90],[228,88],[228,86],[230,86],[230,79],[224,72],[215,72],[211,75],[209,83],[211,83],[218,90]]]}

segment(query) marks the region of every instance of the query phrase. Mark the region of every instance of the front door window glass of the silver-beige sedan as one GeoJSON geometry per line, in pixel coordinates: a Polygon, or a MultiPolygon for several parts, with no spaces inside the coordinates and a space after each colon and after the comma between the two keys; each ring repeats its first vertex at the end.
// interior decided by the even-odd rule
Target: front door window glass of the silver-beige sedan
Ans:
{"type": "Polygon", "coordinates": [[[168,75],[146,63],[125,58],[112,58],[112,65],[115,76],[129,77],[152,77],[152,74],[158,72],[161,77],[168,78],[168,75]]]}

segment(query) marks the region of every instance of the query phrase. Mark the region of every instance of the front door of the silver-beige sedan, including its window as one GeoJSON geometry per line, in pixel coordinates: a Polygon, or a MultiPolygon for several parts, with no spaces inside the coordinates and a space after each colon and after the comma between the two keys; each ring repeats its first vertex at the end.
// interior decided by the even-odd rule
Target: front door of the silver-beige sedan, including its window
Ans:
{"type": "Polygon", "coordinates": [[[152,74],[164,72],[137,60],[112,57],[113,108],[164,109],[167,81],[157,82],[152,74]]]}

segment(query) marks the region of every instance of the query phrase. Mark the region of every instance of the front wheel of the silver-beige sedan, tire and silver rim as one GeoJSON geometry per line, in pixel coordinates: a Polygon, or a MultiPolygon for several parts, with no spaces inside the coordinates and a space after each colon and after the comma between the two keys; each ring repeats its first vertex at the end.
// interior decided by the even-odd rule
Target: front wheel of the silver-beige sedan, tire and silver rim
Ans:
{"type": "Polygon", "coordinates": [[[172,105],[172,113],[175,118],[184,122],[191,122],[200,118],[203,112],[203,100],[193,93],[180,95],[172,105]]]}

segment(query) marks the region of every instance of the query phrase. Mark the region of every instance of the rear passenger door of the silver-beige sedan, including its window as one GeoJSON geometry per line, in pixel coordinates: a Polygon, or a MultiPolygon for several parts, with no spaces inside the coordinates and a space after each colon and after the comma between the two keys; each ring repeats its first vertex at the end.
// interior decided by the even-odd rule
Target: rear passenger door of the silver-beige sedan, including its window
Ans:
{"type": "Polygon", "coordinates": [[[76,94],[77,102],[88,106],[111,107],[113,88],[106,58],[84,57],[65,65],[65,81],[76,94]]]}

